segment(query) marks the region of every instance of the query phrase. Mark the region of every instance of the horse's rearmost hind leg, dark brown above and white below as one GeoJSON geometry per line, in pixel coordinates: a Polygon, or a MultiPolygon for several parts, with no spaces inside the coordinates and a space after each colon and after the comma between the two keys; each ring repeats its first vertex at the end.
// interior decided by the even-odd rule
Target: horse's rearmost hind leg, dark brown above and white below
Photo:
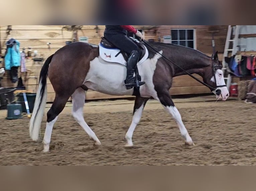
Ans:
{"type": "Polygon", "coordinates": [[[56,122],[59,113],[64,109],[68,99],[69,97],[55,95],[51,108],[47,112],[47,123],[43,137],[43,152],[49,151],[53,125],[56,122]]]}

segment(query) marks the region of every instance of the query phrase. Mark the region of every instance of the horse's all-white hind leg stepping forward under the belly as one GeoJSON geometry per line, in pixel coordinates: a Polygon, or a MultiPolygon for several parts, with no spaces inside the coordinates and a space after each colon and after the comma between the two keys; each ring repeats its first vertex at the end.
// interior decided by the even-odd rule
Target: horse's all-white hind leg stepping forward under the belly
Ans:
{"type": "Polygon", "coordinates": [[[96,146],[100,146],[101,142],[93,132],[93,130],[87,125],[84,119],[84,108],[85,104],[85,91],[82,88],[78,88],[72,95],[72,114],[76,121],[83,127],[85,132],[94,141],[96,146]]]}

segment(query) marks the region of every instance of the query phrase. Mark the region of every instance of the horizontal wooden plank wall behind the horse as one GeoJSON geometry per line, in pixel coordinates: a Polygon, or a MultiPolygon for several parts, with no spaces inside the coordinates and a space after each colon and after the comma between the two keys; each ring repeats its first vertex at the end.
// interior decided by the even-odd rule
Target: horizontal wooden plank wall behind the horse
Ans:
{"type": "MultiPolygon", "coordinates": [[[[207,32],[208,26],[167,26],[162,25],[156,29],[150,29],[150,26],[135,26],[138,29],[144,29],[145,39],[154,39],[158,41],[158,37],[161,38],[164,35],[170,35],[171,28],[195,28],[196,29],[196,44],[197,49],[206,53],[208,55],[212,54],[212,37],[211,33],[207,32]]],[[[219,58],[222,59],[222,53],[224,51],[224,45],[227,34],[227,26],[217,26],[219,32],[215,34],[215,44],[216,50],[219,51],[219,58]]],[[[62,30],[61,25],[12,25],[12,31],[10,34],[6,34],[7,26],[0,26],[0,43],[2,52],[5,52],[6,46],[5,42],[10,38],[15,38],[20,42],[20,50],[28,47],[38,51],[38,55],[43,54],[44,59],[56,52],[59,48],[65,46],[66,41],[72,41],[73,32],[62,30]],[[51,43],[48,47],[47,43],[51,43]]],[[[98,25],[96,30],[95,25],[84,25],[82,30],[78,31],[78,37],[87,36],[89,37],[89,43],[98,44],[100,42],[101,36],[103,36],[105,26],[98,25]]],[[[41,63],[43,64],[43,62],[41,63]]],[[[26,82],[26,79],[29,77],[39,78],[39,73],[41,69],[41,64],[33,63],[33,60],[26,59],[26,68],[31,70],[27,73],[19,73],[19,76],[22,76],[23,82],[27,83],[28,90],[36,90],[36,79],[29,79],[26,82]]],[[[0,64],[0,68],[4,67],[4,62],[0,64]]],[[[20,69],[19,69],[20,70],[20,69]]],[[[198,75],[195,75],[199,79],[202,79],[198,75]]],[[[4,87],[16,87],[16,84],[12,84],[8,79],[7,73],[4,76],[4,79],[1,80],[1,84],[4,87]]],[[[180,76],[175,77],[173,80],[173,86],[170,90],[172,95],[181,95],[181,94],[203,94],[209,93],[209,89],[202,86],[195,80],[191,80],[189,76],[180,76]]],[[[53,88],[47,80],[47,101],[51,102],[54,99],[53,88]]],[[[105,99],[105,98],[118,98],[118,97],[129,97],[129,96],[111,96],[98,93],[95,91],[87,92],[87,99],[105,99]]]]}

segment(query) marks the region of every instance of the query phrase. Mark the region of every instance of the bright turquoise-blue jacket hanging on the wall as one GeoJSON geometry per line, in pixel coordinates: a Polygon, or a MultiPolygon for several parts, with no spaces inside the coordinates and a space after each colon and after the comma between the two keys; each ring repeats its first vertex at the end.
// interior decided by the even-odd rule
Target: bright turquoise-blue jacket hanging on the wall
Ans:
{"type": "Polygon", "coordinates": [[[5,70],[11,70],[12,67],[20,66],[19,41],[11,38],[6,43],[7,49],[4,57],[5,70]]]}

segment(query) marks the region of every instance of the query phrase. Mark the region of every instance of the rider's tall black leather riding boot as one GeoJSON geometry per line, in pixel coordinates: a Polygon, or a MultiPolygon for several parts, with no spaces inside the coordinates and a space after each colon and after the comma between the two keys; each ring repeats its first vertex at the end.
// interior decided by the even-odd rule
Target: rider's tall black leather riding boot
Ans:
{"type": "MultiPolygon", "coordinates": [[[[126,79],[124,81],[126,89],[132,89],[133,87],[137,86],[136,80],[133,77],[133,74],[135,72],[135,67],[139,60],[139,53],[138,51],[132,51],[131,55],[128,58],[127,61],[127,72],[126,72],[126,79]]],[[[145,82],[138,82],[138,85],[141,86],[145,84],[145,82]]]]}

